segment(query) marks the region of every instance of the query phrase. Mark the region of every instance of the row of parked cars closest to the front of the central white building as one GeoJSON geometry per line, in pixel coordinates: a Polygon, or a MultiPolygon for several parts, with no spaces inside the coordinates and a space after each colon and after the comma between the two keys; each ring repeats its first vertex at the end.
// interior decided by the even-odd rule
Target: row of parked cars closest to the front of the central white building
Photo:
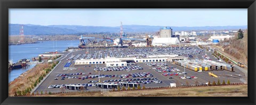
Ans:
{"type": "Polygon", "coordinates": [[[94,71],[107,72],[107,71],[133,71],[133,70],[141,70],[143,69],[141,66],[120,66],[120,67],[95,67],[94,71]]]}

